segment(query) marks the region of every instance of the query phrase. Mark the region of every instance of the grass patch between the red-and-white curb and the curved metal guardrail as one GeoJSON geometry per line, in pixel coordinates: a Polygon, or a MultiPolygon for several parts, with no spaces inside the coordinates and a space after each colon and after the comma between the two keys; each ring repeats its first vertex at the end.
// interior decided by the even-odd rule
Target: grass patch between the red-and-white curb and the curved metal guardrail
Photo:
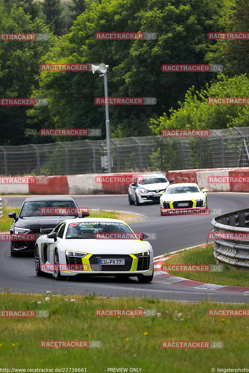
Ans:
{"type": "MultiPolygon", "coordinates": [[[[178,255],[165,260],[163,265],[176,264],[216,264],[213,244],[205,247],[196,247],[181,251],[178,255]]],[[[215,283],[217,285],[249,286],[248,272],[223,267],[222,272],[169,272],[172,275],[184,277],[189,280],[215,283]]]]}

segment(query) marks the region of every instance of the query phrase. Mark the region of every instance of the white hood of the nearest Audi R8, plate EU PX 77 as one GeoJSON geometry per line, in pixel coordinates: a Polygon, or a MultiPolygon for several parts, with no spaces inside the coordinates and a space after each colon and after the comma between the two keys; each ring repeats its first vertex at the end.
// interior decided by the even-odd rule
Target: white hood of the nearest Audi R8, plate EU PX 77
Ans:
{"type": "Polygon", "coordinates": [[[65,239],[58,245],[60,251],[80,251],[88,254],[133,254],[152,251],[149,242],[138,239],[65,239]]]}

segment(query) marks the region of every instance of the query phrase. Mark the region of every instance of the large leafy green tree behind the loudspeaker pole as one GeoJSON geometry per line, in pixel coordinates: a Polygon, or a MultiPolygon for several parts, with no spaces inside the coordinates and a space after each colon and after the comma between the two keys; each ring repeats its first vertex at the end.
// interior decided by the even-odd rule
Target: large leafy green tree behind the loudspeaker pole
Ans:
{"type": "MultiPolygon", "coordinates": [[[[225,0],[224,0],[225,1],[225,0]]],[[[207,34],[217,29],[223,0],[87,1],[86,10],[44,59],[47,63],[100,63],[110,66],[111,97],[156,97],[157,104],[110,106],[113,136],[149,135],[149,118],[177,108],[187,89],[205,86],[214,73],[163,73],[165,63],[203,63],[207,34]],[[100,41],[95,32],[156,32],[156,40],[100,41]]],[[[94,104],[104,96],[103,78],[89,72],[43,72],[40,88],[49,97],[50,116],[58,128],[102,129],[105,107],[94,104]]],[[[63,141],[63,139],[57,139],[63,141]]],[[[74,140],[74,139],[72,139],[74,140]]]]}

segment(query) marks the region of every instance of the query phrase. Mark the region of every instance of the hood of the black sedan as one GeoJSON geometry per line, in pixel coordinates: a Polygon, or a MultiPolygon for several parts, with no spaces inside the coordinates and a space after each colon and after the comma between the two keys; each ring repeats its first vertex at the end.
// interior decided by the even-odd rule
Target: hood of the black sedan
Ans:
{"type": "Polygon", "coordinates": [[[40,228],[55,228],[56,225],[66,219],[72,219],[72,216],[27,216],[19,217],[15,222],[16,227],[40,229],[40,228]]]}

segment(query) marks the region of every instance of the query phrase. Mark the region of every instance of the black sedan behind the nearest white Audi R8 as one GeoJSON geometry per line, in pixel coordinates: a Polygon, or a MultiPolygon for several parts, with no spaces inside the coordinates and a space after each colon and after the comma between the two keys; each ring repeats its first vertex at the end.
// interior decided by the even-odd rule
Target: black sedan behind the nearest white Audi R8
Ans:
{"type": "Polygon", "coordinates": [[[50,233],[59,223],[66,219],[85,216],[81,214],[77,203],[72,197],[28,197],[16,216],[15,212],[9,214],[14,219],[10,227],[10,234],[15,238],[10,241],[10,255],[19,253],[32,253],[35,242],[41,234],[50,233]],[[16,235],[19,235],[18,239],[16,235]],[[27,238],[19,241],[21,235],[27,238]]]}

